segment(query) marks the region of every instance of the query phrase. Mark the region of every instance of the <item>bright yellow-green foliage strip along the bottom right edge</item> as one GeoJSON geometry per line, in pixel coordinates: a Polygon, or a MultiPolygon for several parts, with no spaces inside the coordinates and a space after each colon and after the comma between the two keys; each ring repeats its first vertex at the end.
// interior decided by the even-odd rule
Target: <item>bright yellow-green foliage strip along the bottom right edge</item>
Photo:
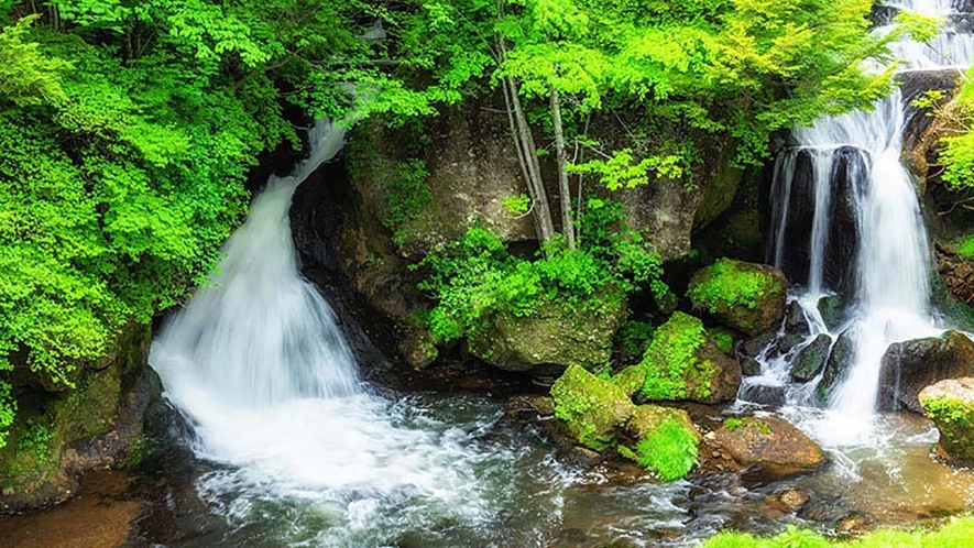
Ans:
{"type": "Polygon", "coordinates": [[[746,533],[721,533],[703,542],[703,548],[966,548],[974,546],[974,517],[952,519],[938,530],[880,529],[860,538],[838,540],[810,529],[789,525],[774,537],[746,533]]]}

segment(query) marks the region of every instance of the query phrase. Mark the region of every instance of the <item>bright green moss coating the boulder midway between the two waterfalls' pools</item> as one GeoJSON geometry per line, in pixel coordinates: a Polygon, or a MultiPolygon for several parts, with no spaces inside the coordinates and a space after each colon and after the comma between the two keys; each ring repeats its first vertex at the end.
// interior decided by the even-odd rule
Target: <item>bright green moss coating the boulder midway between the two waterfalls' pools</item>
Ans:
{"type": "Polygon", "coordinates": [[[710,379],[716,368],[698,355],[707,342],[698,318],[674,314],[656,329],[643,355],[646,380],[639,395],[656,401],[710,397],[710,379]]]}

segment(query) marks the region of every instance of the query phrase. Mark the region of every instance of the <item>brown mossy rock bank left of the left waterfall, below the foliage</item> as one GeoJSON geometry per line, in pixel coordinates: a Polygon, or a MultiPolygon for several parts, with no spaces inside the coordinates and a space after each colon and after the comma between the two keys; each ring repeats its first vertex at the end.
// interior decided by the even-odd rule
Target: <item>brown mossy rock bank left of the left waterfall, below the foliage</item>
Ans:
{"type": "Polygon", "coordinates": [[[62,502],[77,476],[125,468],[142,454],[145,408],[162,392],[146,365],[149,326],[130,326],[113,359],[85,370],[76,387],[58,394],[21,392],[15,424],[0,449],[0,514],[62,502]]]}

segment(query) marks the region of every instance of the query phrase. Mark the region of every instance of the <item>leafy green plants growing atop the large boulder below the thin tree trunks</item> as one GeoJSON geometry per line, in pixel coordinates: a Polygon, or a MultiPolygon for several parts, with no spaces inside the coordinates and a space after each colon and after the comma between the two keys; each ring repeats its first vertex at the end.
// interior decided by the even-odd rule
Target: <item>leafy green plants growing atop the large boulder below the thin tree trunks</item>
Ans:
{"type": "Polygon", "coordinates": [[[579,248],[556,239],[533,260],[510,253],[486,229],[470,228],[415,266],[427,272],[419,288],[436,298],[423,319],[440,341],[450,341],[484,329],[496,313],[526,317],[545,303],[616,309],[617,303],[602,300],[621,295],[608,287],[635,291],[663,274],[659,255],[638,232],[619,224],[621,216],[615,202],[589,200],[579,248]]]}

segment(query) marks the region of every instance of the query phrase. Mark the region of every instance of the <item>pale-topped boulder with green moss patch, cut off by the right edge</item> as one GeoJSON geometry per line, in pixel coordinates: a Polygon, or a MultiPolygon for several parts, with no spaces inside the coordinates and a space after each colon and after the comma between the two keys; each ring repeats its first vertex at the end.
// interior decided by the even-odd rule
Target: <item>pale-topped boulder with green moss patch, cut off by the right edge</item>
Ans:
{"type": "Polygon", "coordinates": [[[927,386],[919,401],[940,430],[940,454],[960,464],[974,464],[974,377],[927,386]]]}

